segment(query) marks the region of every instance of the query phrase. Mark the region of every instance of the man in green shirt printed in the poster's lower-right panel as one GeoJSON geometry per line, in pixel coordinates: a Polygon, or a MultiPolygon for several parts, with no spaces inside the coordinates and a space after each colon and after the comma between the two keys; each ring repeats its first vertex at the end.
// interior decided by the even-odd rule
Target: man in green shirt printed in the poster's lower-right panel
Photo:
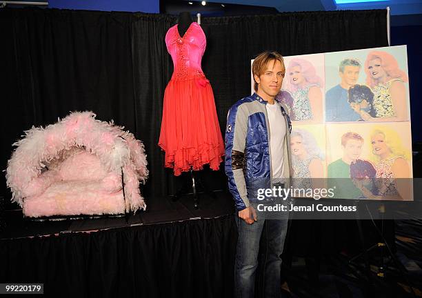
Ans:
{"type": "MultiPolygon", "coordinates": [[[[334,197],[339,199],[358,199],[363,198],[363,194],[357,188],[351,177],[350,165],[352,163],[361,166],[365,163],[365,167],[371,167],[374,172],[373,166],[368,161],[359,159],[362,153],[363,137],[356,132],[346,132],[341,137],[341,148],[343,149],[343,157],[337,159],[328,165],[328,187],[334,188],[334,197]],[[361,161],[361,162],[359,162],[361,161]]],[[[364,172],[364,168],[361,172],[364,172]]],[[[368,177],[369,178],[369,177],[368,177]]]]}

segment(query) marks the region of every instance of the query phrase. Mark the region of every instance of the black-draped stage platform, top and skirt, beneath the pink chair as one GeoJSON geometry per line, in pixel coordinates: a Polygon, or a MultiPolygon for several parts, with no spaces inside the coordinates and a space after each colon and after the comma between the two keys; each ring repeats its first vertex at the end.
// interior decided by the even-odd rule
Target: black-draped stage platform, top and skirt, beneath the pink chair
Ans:
{"type": "Polygon", "coordinates": [[[149,199],[122,218],[30,221],[6,212],[0,280],[44,284],[46,297],[227,297],[237,228],[225,192],[149,199]]]}

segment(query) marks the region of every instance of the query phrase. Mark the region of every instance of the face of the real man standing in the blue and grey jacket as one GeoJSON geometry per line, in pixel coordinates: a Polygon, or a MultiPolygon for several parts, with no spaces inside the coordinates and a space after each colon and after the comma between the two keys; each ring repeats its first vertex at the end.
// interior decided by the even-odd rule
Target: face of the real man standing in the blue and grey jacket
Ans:
{"type": "Polygon", "coordinates": [[[258,93],[265,97],[274,98],[281,89],[283,83],[284,67],[279,60],[268,61],[265,72],[259,77],[255,74],[254,79],[258,83],[258,93]]]}

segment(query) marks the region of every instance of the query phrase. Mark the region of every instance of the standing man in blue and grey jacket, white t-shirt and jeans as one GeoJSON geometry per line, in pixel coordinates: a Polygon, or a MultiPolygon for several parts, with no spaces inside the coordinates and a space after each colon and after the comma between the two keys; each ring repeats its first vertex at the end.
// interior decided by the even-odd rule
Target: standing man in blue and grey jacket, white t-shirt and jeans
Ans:
{"type": "Polygon", "coordinates": [[[272,179],[289,181],[291,124],[285,109],[275,101],[285,74],[283,57],[263,52],[252,64],[255,93],[234,103],[225,132],[225,173],[237,208],[238,243],[235,294],[253,297],[258,251],[265,223],[267,249],[264,297],[281,295],[281,252],[287,217],[265,219],[257,214],[257,185],[270,186],[272,179]]]}

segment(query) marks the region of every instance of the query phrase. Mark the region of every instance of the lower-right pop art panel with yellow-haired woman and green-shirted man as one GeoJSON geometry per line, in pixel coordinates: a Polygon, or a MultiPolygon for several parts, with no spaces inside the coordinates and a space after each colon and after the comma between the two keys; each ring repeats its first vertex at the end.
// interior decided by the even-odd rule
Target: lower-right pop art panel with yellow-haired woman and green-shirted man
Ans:
{"type": "Polygon", "coordinates": [[[333,123],[325,130],[328,187],[336,198],[413,199],[409,122],[333,123]]]}

